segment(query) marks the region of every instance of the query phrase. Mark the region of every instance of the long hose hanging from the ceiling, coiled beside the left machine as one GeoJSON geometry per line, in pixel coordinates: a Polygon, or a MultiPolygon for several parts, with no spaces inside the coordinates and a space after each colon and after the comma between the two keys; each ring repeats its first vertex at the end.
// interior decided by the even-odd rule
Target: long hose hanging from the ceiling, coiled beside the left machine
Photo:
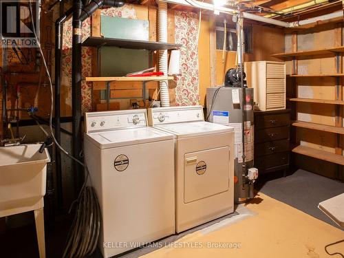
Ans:
{"type": "MultiPolygon", "coordinates": [[[[74,158],[70,155],[60,144],[56,141],[54,136],[54,131],[52,129],[52,113],[54,111],[54,92],[52,87],[52,78],[50,76],[49,69],[47,68],[47,63],[45,61],[45,56],[41,47],[41,43],[36,34],[36,28],[34,27],[34,16],[32,12],[32,3],[29,1],[31,23],[32,23],[32,32],[36,38],[37,45],[39,46],[39,52],[41,52],[41,57],[43,60],[43,65],[45,67],[45,72],[49,79],[50,92],[51,92],[51,108],[50,108],[50,119],[49,127],[50,133],[54,140],[54,143],[58,149],[60,149],[65,155],[67,155],[72,160],[78,162],[85,168],[85,180],[84,184],[80,189],[78,198],[72,203],[69,213],[72,211],[74,204],[77,204],[76,213],[74,215],[74,220],[72,227],[69,230],[65,248],[63,251],[63,258],[72,258],[72,257],[85,257],[86,255],[91,255],[94,250],[96,250],[96,245],[98,242],[98,237],[100,234],[100,206],[98,198],[94,188],[92,186],[86,186],[89,179],[90,184],[92,185],[92,180],[89,178],[89,171],[87,169],[87,164],[80,162],[77,158],[74,158]]],[[[42,127],[40,127],[42,129],[42,127]]],[[[43,130],[45,131],[45,130],[43,130]]],[[[45,131],[46,132],[46,131],[45,131]]]]}

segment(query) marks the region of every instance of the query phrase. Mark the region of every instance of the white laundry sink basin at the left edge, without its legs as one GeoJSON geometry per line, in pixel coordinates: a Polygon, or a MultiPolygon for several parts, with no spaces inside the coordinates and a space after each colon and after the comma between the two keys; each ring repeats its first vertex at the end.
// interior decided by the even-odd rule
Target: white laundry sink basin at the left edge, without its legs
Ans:
{"type": "Polygon", "coordinates": [[[0,147],[0,217],[43,207],[46,168],[50,162],[41,144],[0,147]]]}

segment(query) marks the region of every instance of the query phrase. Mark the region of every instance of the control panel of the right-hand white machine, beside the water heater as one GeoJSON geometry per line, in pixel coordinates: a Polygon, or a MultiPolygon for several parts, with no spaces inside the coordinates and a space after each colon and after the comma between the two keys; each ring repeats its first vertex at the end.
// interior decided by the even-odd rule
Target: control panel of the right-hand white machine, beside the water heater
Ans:
{"type": "Polygon", "coordinates": [[[148,109],[148,123],[151,126],[196,121],[204,121],[202,106],[154,107],[148,109]]]}

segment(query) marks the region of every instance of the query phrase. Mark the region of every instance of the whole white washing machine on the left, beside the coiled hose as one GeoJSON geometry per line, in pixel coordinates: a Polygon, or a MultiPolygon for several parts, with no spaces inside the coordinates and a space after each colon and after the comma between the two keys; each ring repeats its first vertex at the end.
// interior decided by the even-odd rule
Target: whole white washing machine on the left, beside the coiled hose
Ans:
{"type": "Polygon", "coordinates": [[[84,146],[105,258],[175,233],[172,134],[147,127],[145,109],[92,112],[84,146]]]}

